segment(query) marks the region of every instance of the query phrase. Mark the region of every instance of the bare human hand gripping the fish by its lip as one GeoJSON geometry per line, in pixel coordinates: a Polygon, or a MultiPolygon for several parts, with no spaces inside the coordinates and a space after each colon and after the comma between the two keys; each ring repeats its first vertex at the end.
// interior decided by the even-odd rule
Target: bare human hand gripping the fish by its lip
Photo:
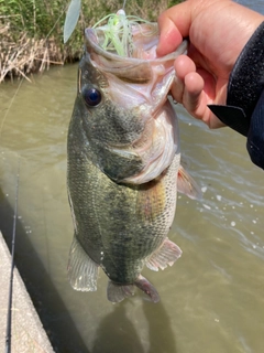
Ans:
{"type": "Polygon", "coordinates": [[[173,97],[210,128],[223,124],[207,105],[226,104],[233,65],[264,17],[230,0],[188,0],[158,18],[157,55],[173,52],[189,36],[188,56],[175,61],[173,97]]]}

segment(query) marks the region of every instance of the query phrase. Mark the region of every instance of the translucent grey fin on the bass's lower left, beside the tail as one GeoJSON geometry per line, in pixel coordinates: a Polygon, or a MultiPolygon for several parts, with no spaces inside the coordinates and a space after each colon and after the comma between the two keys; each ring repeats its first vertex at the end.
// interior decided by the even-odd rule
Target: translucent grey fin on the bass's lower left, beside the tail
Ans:
{"type": "Polygon", "coordinates": [[[75,290],[97,290],[98,265],[87,255],[76,236],[68,260],[68,279],[75,290]]]}

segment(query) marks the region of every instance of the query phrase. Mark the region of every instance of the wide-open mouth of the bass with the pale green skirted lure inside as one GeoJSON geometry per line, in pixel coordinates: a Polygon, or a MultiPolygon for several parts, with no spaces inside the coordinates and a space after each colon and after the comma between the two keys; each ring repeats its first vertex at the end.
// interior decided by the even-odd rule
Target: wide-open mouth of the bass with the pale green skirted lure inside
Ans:
{"type": "Polygon", "coordinates": [[[110,15],[106,25],[96,24],[85,30],[86,49],[96,66],[128,83],[148,83],[153,74],[174,76],[173,63],[186,53],[187,41],[175,52],[157,57],[157,23],[127,17],[120,11],[110,15]]]}

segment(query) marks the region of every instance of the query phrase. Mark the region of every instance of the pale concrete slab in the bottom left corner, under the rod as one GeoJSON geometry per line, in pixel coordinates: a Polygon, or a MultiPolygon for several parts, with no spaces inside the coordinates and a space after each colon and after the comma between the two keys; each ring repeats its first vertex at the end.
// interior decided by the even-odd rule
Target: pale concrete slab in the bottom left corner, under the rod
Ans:
{"type": "MultiPolygon", "coordinates": [[[[0,352],[6,351],[11,256],[0,233],[0,352]]],[[[54,353],[16,268],[13,277],[11,353],[54,353]]]]}

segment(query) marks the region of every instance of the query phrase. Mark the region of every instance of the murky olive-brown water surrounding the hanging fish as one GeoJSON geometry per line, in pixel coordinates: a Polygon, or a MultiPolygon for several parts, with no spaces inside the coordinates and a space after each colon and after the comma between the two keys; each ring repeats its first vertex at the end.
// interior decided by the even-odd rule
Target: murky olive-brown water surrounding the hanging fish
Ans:
{"type": "Polygon", "coordinates": [[[178,197],[169,237],[183,257],[164,271],[143,272],[161,302],[136,291],[109,303],[103,272],[97,292],[70,288],[66,135],[76,76],[73,65],[24,81],[19,92],[18,84],[0,86],[0,227],[10,244],[20,156],[15,261],[55,350],[262,353],[263,171],[251,163],[243,137],[228,128],[209,131],[179,106],[183,154],[204,199],[178,197]]]}

